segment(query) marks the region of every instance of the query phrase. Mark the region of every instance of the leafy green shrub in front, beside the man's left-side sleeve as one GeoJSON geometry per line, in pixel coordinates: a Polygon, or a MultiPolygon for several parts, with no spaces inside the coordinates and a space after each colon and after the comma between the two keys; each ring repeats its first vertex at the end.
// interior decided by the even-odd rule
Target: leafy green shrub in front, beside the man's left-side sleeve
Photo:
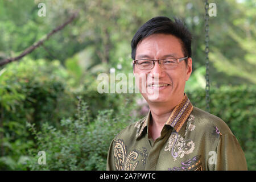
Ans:
{"type": "Polygon", "coordinates": [[[37,132],[33,125],[28,125],[38,141],[38,148],[30,150],[30,154],[35,157],[28,161],[28,168],[105,170],[111,140],[135,118],[125,114],[125,110],[117,115],[111,109],[99,111],[97,118],[90,121],[88,105],[81,100],[78,105],[77,119],[62,119],[60,130],[44,123],[42,131],[37,132]],[[36,154],[40,150],[46,152],[46,165],[39,165],[37,162],[36,154]]]}

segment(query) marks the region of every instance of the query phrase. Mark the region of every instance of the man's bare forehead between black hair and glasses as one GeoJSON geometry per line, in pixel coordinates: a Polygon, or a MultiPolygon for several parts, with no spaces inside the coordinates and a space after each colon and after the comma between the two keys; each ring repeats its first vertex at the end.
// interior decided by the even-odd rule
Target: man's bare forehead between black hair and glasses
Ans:
{"type": "Polygon", "coordinates": [[[143,56],[151,59],[159,59],[164,55],[182,57],[181,40],[173,35],[153,34],[138,43],[136,59],[143,56]]]}

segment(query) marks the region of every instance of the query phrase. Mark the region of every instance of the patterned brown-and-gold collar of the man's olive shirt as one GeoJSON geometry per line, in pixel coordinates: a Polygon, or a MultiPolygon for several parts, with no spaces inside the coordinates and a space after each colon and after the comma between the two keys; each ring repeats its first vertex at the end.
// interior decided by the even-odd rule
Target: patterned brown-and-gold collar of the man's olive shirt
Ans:
{"type": "MultiPolygon", "coordinates": [[[[170,125],[177,133],[179,133],[181,127],[187,121],[189,115],[193,110],[193,105],[189,101],[187,95],[184,93],[183,99],[179,102],[178,105],[174,107],[170,117],[166,121],[166,125],[170,125]]],[[[138,121],[135,125],[137,127],[136,138],[141,137],[142,132],[146,129],[146,126],[150,125],[151,121],[151,111],[148,111],[146,117],[138,121]]]]}

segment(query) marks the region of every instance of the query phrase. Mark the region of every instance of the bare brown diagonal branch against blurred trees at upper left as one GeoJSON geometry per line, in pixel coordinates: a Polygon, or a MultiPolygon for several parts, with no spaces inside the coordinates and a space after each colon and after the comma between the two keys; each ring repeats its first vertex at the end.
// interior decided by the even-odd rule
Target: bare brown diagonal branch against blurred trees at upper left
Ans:
{"type": "Polygon", "coordinates": [[[38,48],[39,46],[41,46],[43,44],[44,41],[48,40],[53,34],[55,34],[56,32],[62,30],[65,26],[67,26],[67,24],[71,23],[76,17],[77,17],[78,13],[74,13],[68,20],[67,22],[63,23],[61,26],[53,29],[51,32],[49,32],[49,34],[47,34],[46,36],[44,36],[43,39],[39,40],[38,42],[34,43],[32,46],[28,47],[27,49],[25,49],[22,53],[20,53],[19,56],[17,57],[12,57],[9,59],[5,59],[3,61],[0,62],[0,67],[2,65],[11,63],[13,61],[19,60],[22,57],[26,56],[28,53],[31,53],[32,51],[34,51],[34,49],[38,48]]]}

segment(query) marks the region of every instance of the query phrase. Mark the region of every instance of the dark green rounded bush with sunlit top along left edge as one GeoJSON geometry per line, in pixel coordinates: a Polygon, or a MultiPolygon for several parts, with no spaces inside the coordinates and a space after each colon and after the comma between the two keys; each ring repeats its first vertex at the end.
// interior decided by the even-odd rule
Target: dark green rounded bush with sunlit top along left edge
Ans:
{"type": "Polygon", "coordinates": [[[24,169],[27,150],[34,146],[26,122],[40,129],[46,121],[58,126],[64,115],[71,115],[72,105],[70,113],[65,107],[73,102],[65,88],[67,73],[59,61],[30,59],[0,72],[0,169],[24,169]]]}

